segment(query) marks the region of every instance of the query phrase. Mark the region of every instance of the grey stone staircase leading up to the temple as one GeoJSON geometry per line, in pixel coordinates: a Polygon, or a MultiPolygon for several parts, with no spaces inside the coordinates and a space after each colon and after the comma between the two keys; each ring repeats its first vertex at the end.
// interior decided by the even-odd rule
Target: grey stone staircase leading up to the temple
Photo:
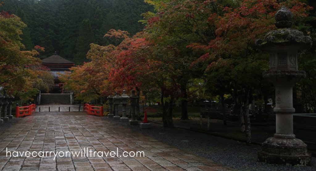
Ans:
{"type": "Polygon", "coordinates": [[[70,105],[70,94],[42,93],[41,105],[70,105]]]}

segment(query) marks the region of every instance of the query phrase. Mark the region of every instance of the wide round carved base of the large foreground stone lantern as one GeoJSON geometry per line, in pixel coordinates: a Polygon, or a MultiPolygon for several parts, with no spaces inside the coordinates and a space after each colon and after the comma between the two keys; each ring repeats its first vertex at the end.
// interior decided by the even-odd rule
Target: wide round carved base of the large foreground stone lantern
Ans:
{"type": "Polygon", "coordinates": [[[269,164],[310,165],[311,154],[307,145],[300,139],[281,139],[270,137],[258,151],[258,161],[269,164]]]}

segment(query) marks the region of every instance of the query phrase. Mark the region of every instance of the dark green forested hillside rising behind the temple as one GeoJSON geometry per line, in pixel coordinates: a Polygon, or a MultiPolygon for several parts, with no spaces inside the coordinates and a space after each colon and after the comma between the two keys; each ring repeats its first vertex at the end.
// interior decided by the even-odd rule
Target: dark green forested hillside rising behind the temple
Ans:
{"type": "Polygon", "coordinates": [[[131,34],[141,31],[143,25],[138,20],[153,7],[143,0],[3,0],[0,10],[27,24],[21,35],[25,50],[39,45],[45,48],[41,58],[57,51],[81,64],[87,60],[90,43],[116,43],[103,38],[110,29],[131,34]]]}

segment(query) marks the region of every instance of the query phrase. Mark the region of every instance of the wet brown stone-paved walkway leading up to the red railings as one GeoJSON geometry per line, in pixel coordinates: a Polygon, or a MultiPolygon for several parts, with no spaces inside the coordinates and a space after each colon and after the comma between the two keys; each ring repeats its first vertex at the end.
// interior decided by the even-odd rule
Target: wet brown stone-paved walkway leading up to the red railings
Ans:
{"type": "MultiPolygon", "coordinates": [[[[37,112],[0,132],[0,170],[229,170],[83,112],[37,112]],[[7,151],[115,151],[115,157],[7,157],[7,151]],[[144,157],[123,157],[143,151],[144,157]],[[133,153],[131,153],[133,154],[133,153]],[[125,154],[126,155],[126,154],[125,154]]],[[[92,152],[93,153],[93,152],[92,152]]],[[[62,153],[59,153],[62,155],[62,153]]],[[[87,154],[87,153],[86,153],[87,154]]],[[[13,155],[13,154],[12,154],[13,155]]]]}

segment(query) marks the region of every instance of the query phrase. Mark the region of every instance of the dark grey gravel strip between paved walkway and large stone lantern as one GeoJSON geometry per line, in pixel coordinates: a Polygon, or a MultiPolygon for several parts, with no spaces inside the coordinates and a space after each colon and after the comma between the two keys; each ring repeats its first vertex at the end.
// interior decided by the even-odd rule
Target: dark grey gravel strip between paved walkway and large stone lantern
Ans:
{"type": "Polygon", "coordinates": [[[261,149],[259,145],[247,146],[243,142],[229,140],[208,134],[187,131],[178,128],[164,128],[162,125],[152,123],[151,129],[140,129],[128,123],[120,123],[113,119],[102,117],[105,120],[116,122],[126,128],[141,132],[162,142],[176,146],[182,150],[189,151],[197,156],[205,157],[222,165],[238,170],[258,171],[315,171],[316,158],[312,158],[312,166],[286,166],[266,164],[257,162],[257,152],[261,149]]]}

